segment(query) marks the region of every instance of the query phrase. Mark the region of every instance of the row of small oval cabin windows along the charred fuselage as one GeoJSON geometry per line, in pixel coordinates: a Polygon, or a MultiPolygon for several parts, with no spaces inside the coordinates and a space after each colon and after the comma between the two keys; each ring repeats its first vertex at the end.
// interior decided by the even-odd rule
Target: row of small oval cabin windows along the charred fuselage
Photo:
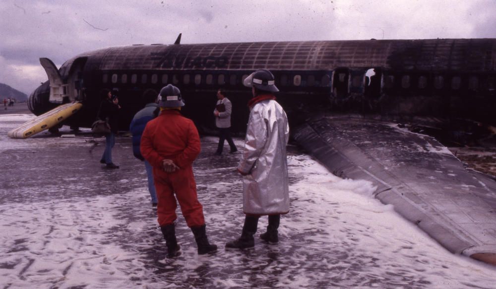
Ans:
{"type": "MultiPolygon", "coordinates": [[[[338,77],[336,77],[336,81],[338,82],[344,82],[346,81],[346,73],[339,73],[338,77]]],[[[243,83],[243,80],[248,77],[248,74],[244,74],[241,78],[237,74],[231,74],[231,75],[226,75],[226,74],[183,74],[182,79],[178,74],[173,74],[172,75],[172,81],[171,83],[174,85],[177,84],[195,84],[195,85],[200,85],[200,84],[206,84],[206,85],[239,85],[243,83]]],[[[314,75],[294,75],[292,76],[293,79],[291,81],[291,76],[282,74],[280,75],[278,81],[276,80],[276,84],[280,86],[288,86],[288,85],[293,85],[293,86],[306,86],[306,87],[329,87],[330,86],[330,77],[329,75],[323,75],[320,77],[320,79],[316,79],[314,75]],[[305,78],[305,79],[304,79],[305,78]]],[[[437,75],[434,76],[433,79],[433,87],[435,89],[442,89],[444,88],[446,84],[447,78],[445,78],[442,75],[437,75]]],[[[112,84],[127,84],[128,82],[131,84],[136,84],[138,83],[138,74],[131,74],[130,79],[128,79],[127,74],[122,74],[120,77],[118,74],[114,73],[110,75],[109,79],[109,74],[103,74],[102,77],[102,82],[103,83],[108,83],[111,82],[112,84]]],[[[160,76],[160,83],[161,84],[168,84],[169,82],[169,74],[162,74],[160,76]]],[[[139,83],[140,84],[158,84],[159,83],[159,75],[158,74],[152,74],[150,77],[148,74],[141,74],[139,77],[139,83]],[[150,78],[150,79],[149,79],[150,78]],[[149,82],[148,82],[149,81],[149,82]]],[[[466,79],[467,83],[467,88],[469,90],[478,90],[480,88],[480,79],[477,76],[470,76],[468,79],[466,79]]],[[[485,79],[485,84],[484,87],[489,90],[494,90],[496,87],[496,81],[495,77],[489,77],[485,79]]],[[[394,75],[387,75],[383,79],[383,84],[384,88],[386,89],[392,89],[395,86],[395,76],[394,75]]],[[[352,81],[351,81],[351,86],[353,87],[361,87],[364,85],[364,78],[363,76],[357,75],[354,76],[352,81]]],[[[401,76],[401,81],[400,81],[400,86],[403,89],[410,89],[413,88],[413,86],[416,86],[418,89],[425,89],[428,87],[428,77],[427,76],[419,76],[419,77],[412,77],[410,75],[402,75],[401,76]]],[[[453,76],[449,79],[449,88],[452,90],[459,90],[462,87],[462,77],[460,76],[453,76]]]]}

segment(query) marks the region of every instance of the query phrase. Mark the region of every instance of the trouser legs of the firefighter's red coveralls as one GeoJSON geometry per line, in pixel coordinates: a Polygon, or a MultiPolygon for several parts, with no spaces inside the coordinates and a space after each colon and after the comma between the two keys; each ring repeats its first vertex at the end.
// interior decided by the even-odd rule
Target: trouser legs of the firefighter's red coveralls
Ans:
{"type": "Polygon", "coordinates": [[[157,192],[157,215],[160,226],[172,224],[177,219],[176,199],[181,206],[188,227],[205,224],[203,206],[196,195],[196,183],[191,166],[173,173],[153,168],[153,179],[157,192]]]}

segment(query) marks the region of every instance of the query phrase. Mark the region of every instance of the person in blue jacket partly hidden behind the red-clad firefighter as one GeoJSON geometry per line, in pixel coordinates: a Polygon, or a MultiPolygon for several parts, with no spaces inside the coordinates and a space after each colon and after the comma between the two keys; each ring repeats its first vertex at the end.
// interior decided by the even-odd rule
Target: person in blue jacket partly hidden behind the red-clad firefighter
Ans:
{"type": "Polygon", "coordinates": [[[158,201],[155,192],[155,184],[153,183],[153,167],[141,155],[139,147],[141,144],[141,135],[143,134],[146,124],[158,116],[160,107],[156,103],[157,95],[155,93],[150,91],[145,94],[144,99],[147,104],[134,115],[131,125],[129,126],[129,131],[132,134],[132,153],[136,158],[145,162],[146,176],[148,177],[148,191],[150,191],[152,206],[156,207],[158,201]]]}

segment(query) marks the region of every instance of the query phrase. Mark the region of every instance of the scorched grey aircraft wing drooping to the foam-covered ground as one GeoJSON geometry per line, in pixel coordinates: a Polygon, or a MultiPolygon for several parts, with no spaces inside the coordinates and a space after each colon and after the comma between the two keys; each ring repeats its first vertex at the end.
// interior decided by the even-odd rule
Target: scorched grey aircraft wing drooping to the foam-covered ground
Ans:
{"type": "Polygon", "coordinates": [[[376,198],[449,251],[496,264],[494,180],[434,138],[344,117],[312,120],[295,138],[334,174],[372,182],[376,198]]]}

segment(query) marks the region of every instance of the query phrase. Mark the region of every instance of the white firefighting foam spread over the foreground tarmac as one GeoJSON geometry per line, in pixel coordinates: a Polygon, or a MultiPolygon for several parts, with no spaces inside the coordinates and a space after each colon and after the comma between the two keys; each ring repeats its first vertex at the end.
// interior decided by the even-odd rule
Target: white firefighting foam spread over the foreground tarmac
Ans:
{"type": "MultiPolygon", "coordinates": [[[[241,231],[239,178],[219,178],[199,190],[207,232],[216,232],[209,239],[220,247],[212,256],[196,254],[180,217],[183,255],[164,257],[155,213],[144,206],[149,203],[144,182],[142,190],[120,194],[0,204],[0,285],[201,288],[208,279],[215,288],[494,288],[495,267],[446,251],[374,199],[370,183],[333,176],[305,155],[289,155],[288,165],[291,211],[281,219],[280,243],[267,245],[257,238],[252,251],[223,248],[241,231]],[[162,256],[160,267],[153,263],[155,256],[162,256]]],[[[200,170],[195,167],[195,174],[200,170]]],[[[70,190],[78,190],[77,182],[70,183],[70,190]]],[[[260,218],[258,233],[266,225],[267,218],[260,218]]]]}

